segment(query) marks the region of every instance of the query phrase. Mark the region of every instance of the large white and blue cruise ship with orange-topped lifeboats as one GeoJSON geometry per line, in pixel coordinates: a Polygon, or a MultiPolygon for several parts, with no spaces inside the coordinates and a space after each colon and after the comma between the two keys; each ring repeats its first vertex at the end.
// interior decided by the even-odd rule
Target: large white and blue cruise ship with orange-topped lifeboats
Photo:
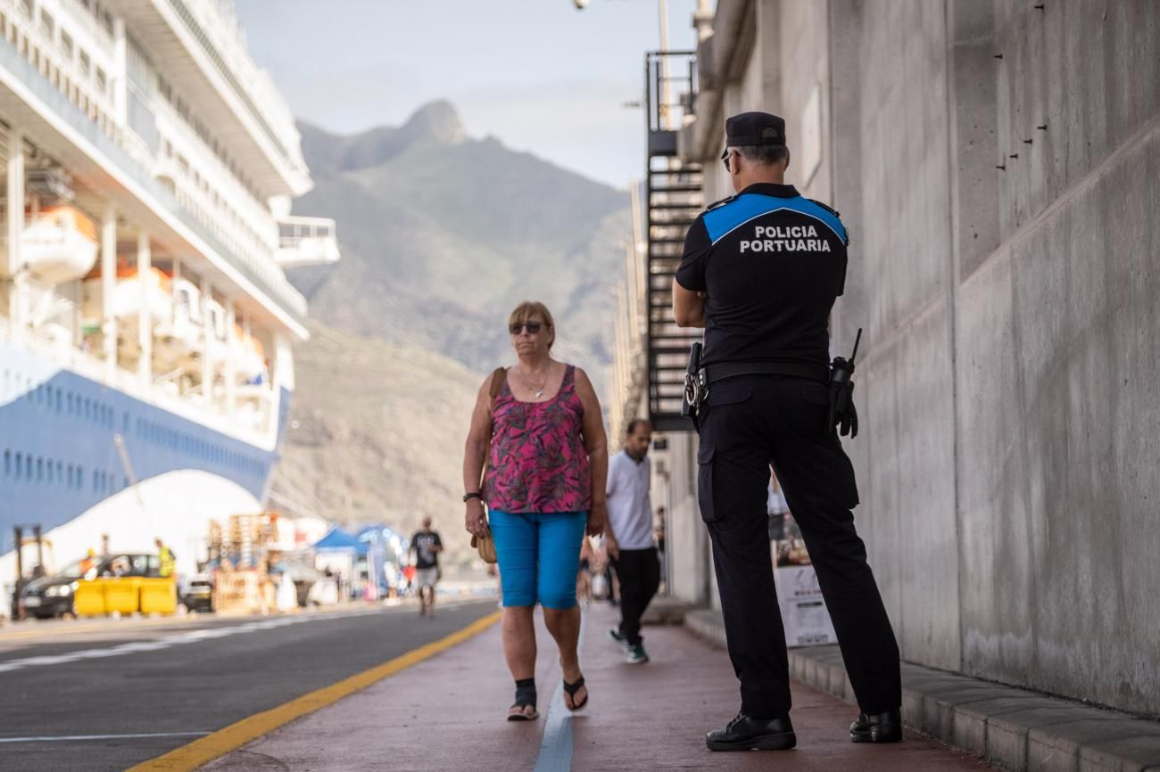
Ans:
{"type": "Polygon", "coordinates": [[[307,336],[284,269],[339,260],[290,213],[300,144],[230,2],[0,0],[0,584],[14,526],[49,569],[160,537],[191,570],[262,510],[307,336]]]}

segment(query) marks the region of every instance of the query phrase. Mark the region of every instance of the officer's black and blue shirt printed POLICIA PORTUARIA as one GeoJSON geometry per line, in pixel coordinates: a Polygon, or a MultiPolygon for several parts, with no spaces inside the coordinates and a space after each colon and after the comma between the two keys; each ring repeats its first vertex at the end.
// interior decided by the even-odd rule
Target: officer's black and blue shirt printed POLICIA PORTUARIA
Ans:
{"type": "Polygon", "coordinates": [[[846,282],[846,226],[793,185],[757,183],[689,226],[676,282],[703,291],[702,363],[829,363],[846,282]]]}

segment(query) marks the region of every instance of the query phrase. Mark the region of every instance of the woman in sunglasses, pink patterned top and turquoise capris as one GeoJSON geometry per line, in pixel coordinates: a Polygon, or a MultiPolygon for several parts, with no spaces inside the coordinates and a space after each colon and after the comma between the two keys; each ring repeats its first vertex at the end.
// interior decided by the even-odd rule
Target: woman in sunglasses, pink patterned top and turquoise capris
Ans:
{"type": "Polygon", "coordinates": [[[503,593],[503,655],[515,678],[507,718],[530,721],[539,715],[536,603],[559,649],[565,705],[579,711],[588,702],[577,657],[575,581],[580,541],[586,532],[604,530],[608,440],[588,376],[551,356],[556,325],[548,308],[520,304],[508,332],[517,362],[488,376],[471,416],[463,459],[465,525],[481,536],[491,520],[503,593]]]}

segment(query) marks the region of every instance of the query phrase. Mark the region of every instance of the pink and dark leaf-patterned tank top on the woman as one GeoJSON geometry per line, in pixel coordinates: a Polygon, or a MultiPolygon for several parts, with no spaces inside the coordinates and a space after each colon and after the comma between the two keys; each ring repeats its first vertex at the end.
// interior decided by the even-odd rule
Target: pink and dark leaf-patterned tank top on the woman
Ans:
{"type": "Polygon", "coordinates": [[[575,367],[545,402],[521,402],[507,381],[492,405],[492,446],[484,498],[502,512],[579,512],[592,504],[583,405],[575,367]]]}

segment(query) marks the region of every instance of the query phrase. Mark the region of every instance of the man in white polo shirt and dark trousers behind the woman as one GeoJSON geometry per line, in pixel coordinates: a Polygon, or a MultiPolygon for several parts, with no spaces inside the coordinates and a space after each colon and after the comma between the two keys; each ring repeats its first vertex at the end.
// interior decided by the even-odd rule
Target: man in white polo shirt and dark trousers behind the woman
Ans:
{"type": "Polygon", "coordinates": [[[652,427],[644,418],[629,423],[624,450],[608,460],[608,556],[621,580],[621,625],[609,636],[629,647],[629,662],[648,662],[640,638],[640,618],[660,585],[660,561],[653,541],[648,483],[652,427]]]}

